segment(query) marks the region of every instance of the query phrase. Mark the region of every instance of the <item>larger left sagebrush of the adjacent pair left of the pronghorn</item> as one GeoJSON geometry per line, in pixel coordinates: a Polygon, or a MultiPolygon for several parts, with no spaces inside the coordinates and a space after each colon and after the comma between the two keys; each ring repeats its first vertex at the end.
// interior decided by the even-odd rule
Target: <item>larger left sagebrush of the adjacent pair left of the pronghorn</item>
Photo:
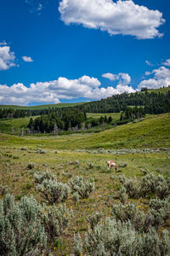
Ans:
{"type": "Polygon", "coordinates": [[[37,184],[36,189],[49,204],[65,201],[71,192],[67,184],[52,179],[44,179],[41,184],[37,184]]]}

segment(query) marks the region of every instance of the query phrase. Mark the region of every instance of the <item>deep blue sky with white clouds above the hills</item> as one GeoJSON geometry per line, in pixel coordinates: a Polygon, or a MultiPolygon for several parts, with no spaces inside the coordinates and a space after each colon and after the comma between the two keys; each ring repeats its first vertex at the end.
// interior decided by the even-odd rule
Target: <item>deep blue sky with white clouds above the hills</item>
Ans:
{"type": "Polygon", "coordinates": [[[0,2],[0,104],[98,100],[170,85],[167,0],[0,2]]]}

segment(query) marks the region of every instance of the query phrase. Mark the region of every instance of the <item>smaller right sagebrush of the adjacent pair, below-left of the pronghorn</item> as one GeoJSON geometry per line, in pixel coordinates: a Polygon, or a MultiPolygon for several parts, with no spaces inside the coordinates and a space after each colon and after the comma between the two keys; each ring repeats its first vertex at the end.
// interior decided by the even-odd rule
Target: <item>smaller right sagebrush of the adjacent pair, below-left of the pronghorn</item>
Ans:
{"type": "Polygon", "coordinates": [[[71,178],[71,188],[73,192],[77,192],[80,198],[88,198],[92,191],[94,191],[94,178],[89,180],[83,177],[76,176],[71,178]]]}

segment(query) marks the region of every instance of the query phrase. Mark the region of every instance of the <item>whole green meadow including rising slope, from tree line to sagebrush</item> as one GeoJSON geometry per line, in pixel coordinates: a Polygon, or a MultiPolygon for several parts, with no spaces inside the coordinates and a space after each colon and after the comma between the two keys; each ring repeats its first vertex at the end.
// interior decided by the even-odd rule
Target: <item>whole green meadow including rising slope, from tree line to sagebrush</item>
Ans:
{"type": "MultiPolygon", "coordinates": [[[[91,116],[98,118],[98,114],[91,116]]],[[[118,118],[118,113],[113,114],[114,117],[118,118]]],[[[18,121],[20,127],[21,119],[6,122],[12,121],[18,121]]],[[[22,119],[22,125],[26,125],[26,121],[22,119]]],[[[16,127],[14,123],[11,125],[16,127]]],[[[62,183],[69,183],[70,177],[77,175],[94,177],[95,189],[87,199],[76,203],[71,195],[65,201],[66,207],[74,212],[74,217],[63,235],[48,244],[52,255],[70,255],[74,253],[74,233],[83,237],[88,230],[88,214],[102,212],[103,218],[111,216],[112,205],[119,201],[118,191],[121,188],[116,177],[124,175],[140,179],[144,175],[141,170],[154,172],[156,176],[161,174],[170,177],[169,131],[170,113],[165,113],[150,115],[138,123],[116,126],[93,134],[17,137],[1,133],[1,184],[8,185],[16,201],[23,195],[32,194],[37,201],[43,202],[35,189],[34,172],[48,170],[62,183]],[[127,148],[127,151],[123,152],[122,148],[127,148]],[[133,153],[132,148],[140,150],[133,153]],[[155,148],[155,151],[151,148],[155,148]],[[43,154],[40,154],[41,150],[43,154]],[[108,171],[107,160],[115,160],[118,166],[125,167],[119,167],[116,173],[113,169],[108,171]],[[35,164],[31,170],[28,168],[30,162],[35,164]]],[[[135,199],[128,201],[138,203],[135,199]]],[[[140,206],[146,207],[148,204],[148,199],[140,198],[140,206]]],[[[170,223],[167,222],[164,228],[170,230],[170,223]]]]}

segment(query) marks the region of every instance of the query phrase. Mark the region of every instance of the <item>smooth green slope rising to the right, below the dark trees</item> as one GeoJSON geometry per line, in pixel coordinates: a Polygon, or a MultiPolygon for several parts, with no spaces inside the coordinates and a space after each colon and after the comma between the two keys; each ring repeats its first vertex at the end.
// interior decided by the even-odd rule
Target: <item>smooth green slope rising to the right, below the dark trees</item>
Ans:
{"type": "Polygon", "coordinates": [[[170,113],[151,115],[139,123],[129,123],[97,134],[61,137],[20,138],[1,135],[0,145],[29,145],[43,148],[156,148],[170,147],[170,113]]]}

